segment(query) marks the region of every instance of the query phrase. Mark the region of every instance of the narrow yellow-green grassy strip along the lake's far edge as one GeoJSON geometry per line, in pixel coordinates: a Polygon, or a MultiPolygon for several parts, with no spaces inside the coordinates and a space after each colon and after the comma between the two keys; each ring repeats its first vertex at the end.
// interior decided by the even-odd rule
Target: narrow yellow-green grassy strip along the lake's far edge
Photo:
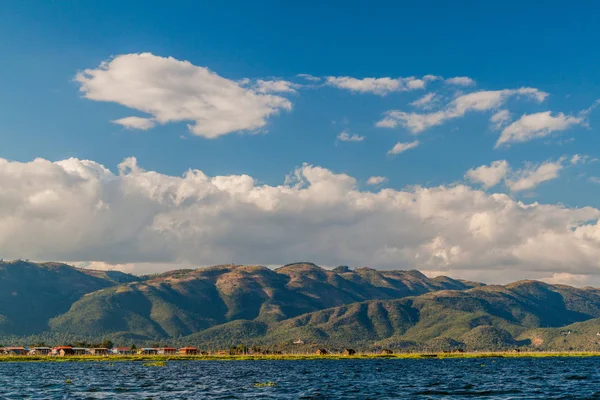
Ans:
{"type": "Polygon", "coordinates": [[[600,352],[473,352],[473,353],[398,353],[390,355],[361,353],[341,354],[277,354],[277,355],[115,355],[115,356],[0,356],[0,362],[119,362],[119,361],[240,361],[240,360],[348,360],[348,359],[449,359],[449,358],[544,358],[544,357],[598,357],[600,352]]]}

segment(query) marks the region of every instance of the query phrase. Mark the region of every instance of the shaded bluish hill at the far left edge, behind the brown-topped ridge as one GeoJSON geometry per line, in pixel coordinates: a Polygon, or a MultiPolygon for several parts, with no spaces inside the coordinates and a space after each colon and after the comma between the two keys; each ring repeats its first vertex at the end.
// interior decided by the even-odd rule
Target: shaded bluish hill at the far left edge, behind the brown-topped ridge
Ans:
{"type": "Polygon", "coordinates": [[[83,295],[133,282],[118,271],[95,271],[60,263],[0,262],[0,333],[47,331],[48,321],[83,295]]]}

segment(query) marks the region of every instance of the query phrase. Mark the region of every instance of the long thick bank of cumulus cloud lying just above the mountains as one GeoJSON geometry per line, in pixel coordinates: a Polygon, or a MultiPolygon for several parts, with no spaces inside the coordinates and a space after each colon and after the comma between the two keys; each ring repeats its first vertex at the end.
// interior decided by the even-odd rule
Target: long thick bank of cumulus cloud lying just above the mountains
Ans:
{"type": "Polygon", "coordinates": [[[600,274],[600,210],[525,204],[460,184],[362,191],[351,176],[303,165],[271,186],[199,170],[169,176],[130,158],[119,173],[87,160],[0,159],[0,186],[5,259],[138,273],[149,264],[310,260],[504,281],[600,274]]]}

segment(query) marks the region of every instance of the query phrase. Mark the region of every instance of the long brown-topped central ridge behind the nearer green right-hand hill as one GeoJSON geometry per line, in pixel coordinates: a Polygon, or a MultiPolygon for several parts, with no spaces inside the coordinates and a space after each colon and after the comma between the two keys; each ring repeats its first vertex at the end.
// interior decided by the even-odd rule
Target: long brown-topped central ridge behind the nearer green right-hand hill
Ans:
{"type": "Polygon", "coordinates": [[[429,279],[418,271],[226,265],[161,274],[89,294],[50,326],[53,332],[80,335],[179,337],[236,320],[272,324],[344,304],[475,285],[429,279]]]}

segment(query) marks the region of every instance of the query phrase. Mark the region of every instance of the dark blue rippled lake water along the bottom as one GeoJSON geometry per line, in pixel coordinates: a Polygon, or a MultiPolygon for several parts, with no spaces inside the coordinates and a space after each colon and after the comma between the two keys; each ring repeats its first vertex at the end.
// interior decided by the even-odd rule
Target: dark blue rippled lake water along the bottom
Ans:
{"type": "Polygon", "coordinates": [[[582,399],[600,398],[599,368],[600,358],[2,363],[0,398],[582,399]]]}

